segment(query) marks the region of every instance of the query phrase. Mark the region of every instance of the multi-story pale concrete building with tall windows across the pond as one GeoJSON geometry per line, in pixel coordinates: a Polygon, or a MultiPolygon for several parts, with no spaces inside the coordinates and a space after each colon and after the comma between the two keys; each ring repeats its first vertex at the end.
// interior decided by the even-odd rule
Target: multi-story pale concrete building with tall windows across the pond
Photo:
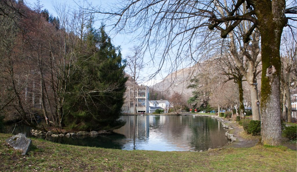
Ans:
{"type": "Polygon", "coordinates": [[[125,103],[122,107],[123,113],[134,113],[134,102],[136,102],[137,113],[149,113],[149,87],[132,86],[127,87],[125,103]]]}

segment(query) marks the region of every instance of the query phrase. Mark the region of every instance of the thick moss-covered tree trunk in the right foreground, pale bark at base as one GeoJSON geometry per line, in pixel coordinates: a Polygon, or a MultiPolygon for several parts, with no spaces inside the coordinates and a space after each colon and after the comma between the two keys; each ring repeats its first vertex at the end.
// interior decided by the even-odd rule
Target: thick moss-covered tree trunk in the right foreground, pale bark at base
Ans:
{"type": "MultiPolygon", "coordinates": [[[[256,3],[255,3],[256,4],[256,3]]],[[[280,124],[280,41],[285,26],[285,0],[257,1],[255,12],[261,34],[261,142],[281,144],[280,124]]]]}

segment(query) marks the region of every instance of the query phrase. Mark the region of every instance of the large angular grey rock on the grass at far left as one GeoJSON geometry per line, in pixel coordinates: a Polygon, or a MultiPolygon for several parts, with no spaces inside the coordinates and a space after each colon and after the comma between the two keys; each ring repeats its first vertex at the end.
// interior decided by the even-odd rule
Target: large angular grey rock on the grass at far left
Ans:
{"type": "Polygon", "coordinates": [[[22,155],[28,153],[32,146],[32,140],[27,139],[25,134],[19,133],[5,140],[5,142],[14,149],[22,150],[22,155]]]}

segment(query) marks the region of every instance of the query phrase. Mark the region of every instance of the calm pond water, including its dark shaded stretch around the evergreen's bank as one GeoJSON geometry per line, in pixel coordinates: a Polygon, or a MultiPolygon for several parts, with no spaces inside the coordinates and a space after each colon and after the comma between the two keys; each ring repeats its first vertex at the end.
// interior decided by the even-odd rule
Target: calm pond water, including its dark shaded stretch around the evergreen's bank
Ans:
{"type": "MultiPolygon", "coordinates": [[[[227,129],[210,117],[193,116],[122,116],[125,126],[114,134],[97,137],[44,137],[53,142],[70,145],[104,147],[123,150],[188,151],[215,148],[228,142],[227,129]]],[[[11,133],[15,125],[5,126],[11,133]]],[[[31,128],[18,125],[14,134],[31,136],[31,128]]]]}

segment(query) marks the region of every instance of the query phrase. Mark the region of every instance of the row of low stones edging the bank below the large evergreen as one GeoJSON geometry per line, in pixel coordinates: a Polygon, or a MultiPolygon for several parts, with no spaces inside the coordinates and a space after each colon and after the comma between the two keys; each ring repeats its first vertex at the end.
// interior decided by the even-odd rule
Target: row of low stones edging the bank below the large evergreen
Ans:
{"type": "Polygon", "coordinates": [[[109,134],[110,132],[107,132],[106,130],[101,130],[99,132],[97,131],[91,131],[91,132],[65,132],[65,133],[56,133],[53,131],[42,131],[42,130],[34,130],[31,131],[32,135],[34,136],[51,136],[51,137],[76,137],[76,136],[97,136],[99,134],[109,134]]]}

